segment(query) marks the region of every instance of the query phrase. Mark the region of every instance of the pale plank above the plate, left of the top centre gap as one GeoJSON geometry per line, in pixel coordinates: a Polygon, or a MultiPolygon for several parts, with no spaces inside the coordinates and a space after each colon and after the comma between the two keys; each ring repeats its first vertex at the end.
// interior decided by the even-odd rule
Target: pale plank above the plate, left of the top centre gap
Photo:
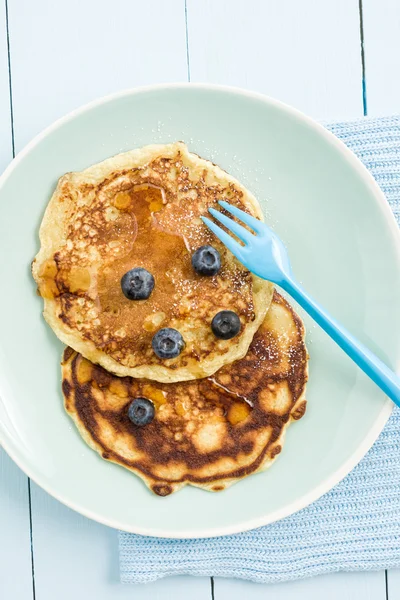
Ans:
{"type": "Polygon", "coordinates": [[[8,0],[16,146],[97,97],[186,81],[184,0],[8,0]]]}

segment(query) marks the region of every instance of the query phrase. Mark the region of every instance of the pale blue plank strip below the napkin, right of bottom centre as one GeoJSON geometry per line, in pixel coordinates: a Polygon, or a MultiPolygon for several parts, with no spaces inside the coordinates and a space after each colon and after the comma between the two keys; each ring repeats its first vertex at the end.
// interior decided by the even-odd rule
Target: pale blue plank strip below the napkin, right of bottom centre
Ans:
{"type": "Polygon", "coordinates": [[[214,591],[215,600],[386,600],[384,571],[335,573],[273,585],[217,578],[214,591]]]}

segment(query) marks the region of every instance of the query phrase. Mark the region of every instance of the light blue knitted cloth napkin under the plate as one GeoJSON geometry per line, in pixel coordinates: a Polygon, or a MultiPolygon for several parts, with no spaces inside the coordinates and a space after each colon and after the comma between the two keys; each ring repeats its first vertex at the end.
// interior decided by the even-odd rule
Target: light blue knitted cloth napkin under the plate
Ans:
{"type": "MultiPolygon", "coordinates": [[[[369,169],[400,224],[400,116],[325,126],[369,169]]],[[[210,539],[119,532],[119,552],[123,583],[178,574],[271,583],[400,567],[400,409],[359,465],[300,512],[253,531],[210,539]]]]}

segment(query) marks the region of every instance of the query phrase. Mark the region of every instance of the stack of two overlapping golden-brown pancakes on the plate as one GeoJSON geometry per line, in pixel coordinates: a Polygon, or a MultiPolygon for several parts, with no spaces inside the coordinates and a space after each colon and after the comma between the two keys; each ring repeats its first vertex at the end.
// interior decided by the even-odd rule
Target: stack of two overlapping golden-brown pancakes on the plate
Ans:
{"type": "Polygon", "coordinates": [[[263,218],[236,179],[181,142],[121,154],[60,179],[32,265],[44,317],[67,345],[67,412],[94,450],[160,496],[220,491],[266,469],[306,407],[303,324],[202,223],[219,200],[263,218]],[[221,258],[211,277],[192,264],[204,245],[221,258]],[[154,289],[131,300],[121,279],[138,267],[154,289]],[[227,310],[240,331],[222,339],[211,322],[227,310]],[[175,358],[154,351],[162,328],[184,340],[175,358]],[[137,398],[154,406],[143,426],[129,417],[137,398]]]}

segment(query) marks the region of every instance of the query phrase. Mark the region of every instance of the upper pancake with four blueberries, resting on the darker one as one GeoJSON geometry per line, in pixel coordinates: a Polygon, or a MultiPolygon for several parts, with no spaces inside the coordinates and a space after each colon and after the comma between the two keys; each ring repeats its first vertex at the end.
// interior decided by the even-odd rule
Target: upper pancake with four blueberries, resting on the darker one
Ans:
{"type": "Polygon", "coordinates": [[[183,143],[146,146],[62,177],[40,228],[32,265],[44,317],[65,344],[118,376],[161,382],[205,377],[242,358],[271,302],[273,286],[253,276],[202,223],[225,199],[262,219],[255,198],[183,143]],[[211,244],[221,269],[198,275],[195,250],[211,244]],[[142,267],[155,279],[147,300],[127,299],[121,278],[142,267]],[[235,312],[234,340],[211,321],[235,312]],[[158,358],[152,338],[173,328],[185,347],[158,358]]]}

